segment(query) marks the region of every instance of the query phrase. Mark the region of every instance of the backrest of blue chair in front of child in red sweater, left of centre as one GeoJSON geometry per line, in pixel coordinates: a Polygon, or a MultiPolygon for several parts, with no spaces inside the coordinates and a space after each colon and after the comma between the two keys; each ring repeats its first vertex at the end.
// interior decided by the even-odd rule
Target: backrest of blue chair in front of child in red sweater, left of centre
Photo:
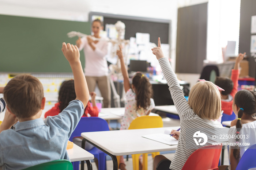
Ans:
{"type": "Polygon", "coordinates": [[[69,140],[81,136],[83,132],[109,131],[108,122],[99,117],[81,117],[69,140]]]}

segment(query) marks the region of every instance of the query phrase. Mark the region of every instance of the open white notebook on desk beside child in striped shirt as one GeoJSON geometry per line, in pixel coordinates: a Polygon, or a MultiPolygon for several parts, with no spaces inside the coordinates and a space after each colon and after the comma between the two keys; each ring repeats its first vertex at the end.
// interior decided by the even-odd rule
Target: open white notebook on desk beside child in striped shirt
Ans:
{"type": "Polygon", "coordinates": [[[168,145],[176,145],[178,144],[178,140],[170,136],[171,129],[166,129],[163,134],[150,134],[144,135],[143,138],[155,140],[157,142],[161,142],[168,145]]]}

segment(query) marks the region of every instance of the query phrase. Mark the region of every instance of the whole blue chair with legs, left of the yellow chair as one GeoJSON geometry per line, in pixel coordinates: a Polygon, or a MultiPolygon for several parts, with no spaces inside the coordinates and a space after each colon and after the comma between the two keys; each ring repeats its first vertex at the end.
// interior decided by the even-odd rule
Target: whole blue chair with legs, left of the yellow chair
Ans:
{"type": "MultiPolygon", "coordinates": [[[[82,117],[76,126],[74,132],[71,134],[69,140],[73,141],[73,138],[81,136],[83,132],[97,132],[97,131],[109,131],[108,122],[99,117],[82,117]]],[[[96,147],[88,150],[94,155],[94,158],[98,159],[99,170],[106,170],[106,155],[104,152],[96,147]]],[[[79,162],[72,162],[74,170],[79,170],[79,162]]]]}

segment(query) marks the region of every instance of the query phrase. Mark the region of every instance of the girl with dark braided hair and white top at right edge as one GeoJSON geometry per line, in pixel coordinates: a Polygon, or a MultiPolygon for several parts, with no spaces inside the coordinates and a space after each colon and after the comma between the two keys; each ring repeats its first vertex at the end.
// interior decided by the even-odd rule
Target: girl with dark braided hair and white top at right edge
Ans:
{"type": "Polygon", "coordinates": [[[232,136],[229,139],[230,165],[219,166],[219,170],[235,170],[244,152],[256,144],[256,118],[253,117],[256,112],[256,93],[249,90],[238,91],[232,108],[238,119],[231,121],[229,130],[229,136],[232,136]]]}

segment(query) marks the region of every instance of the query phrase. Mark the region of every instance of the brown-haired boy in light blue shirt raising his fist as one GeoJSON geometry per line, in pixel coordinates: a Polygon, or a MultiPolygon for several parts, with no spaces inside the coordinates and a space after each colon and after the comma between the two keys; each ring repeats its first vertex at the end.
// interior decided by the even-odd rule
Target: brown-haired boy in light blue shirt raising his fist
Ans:
{"type": "Polygon", "coordinates": [[[59,159],[67,159],[67,141],[84,113],[89,90],[76,46],[63,43],[62,49],[74,74],[76,100],[57,116],[43,121],[45,107],[41,82],[20,74],[4,88],[7,112],[0,126],[0,166],[2,169],[25,169],[59,159]],[[19,121],[17,124],[16,121],[19,121]],[[15,124],[14,130],[10,129],[15,124]]]}

